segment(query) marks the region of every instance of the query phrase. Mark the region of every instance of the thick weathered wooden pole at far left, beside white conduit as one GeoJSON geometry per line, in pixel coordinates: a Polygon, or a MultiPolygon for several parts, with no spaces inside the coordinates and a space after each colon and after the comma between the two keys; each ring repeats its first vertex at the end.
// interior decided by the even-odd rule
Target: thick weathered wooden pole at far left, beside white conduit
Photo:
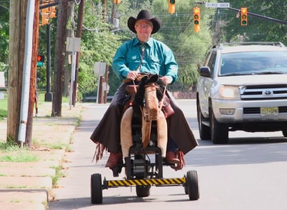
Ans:
{"type": "Polygon", "coordinates": [[[27,0],[10,1],[7,141],[17,141],[20,125],[27,0]]]}

